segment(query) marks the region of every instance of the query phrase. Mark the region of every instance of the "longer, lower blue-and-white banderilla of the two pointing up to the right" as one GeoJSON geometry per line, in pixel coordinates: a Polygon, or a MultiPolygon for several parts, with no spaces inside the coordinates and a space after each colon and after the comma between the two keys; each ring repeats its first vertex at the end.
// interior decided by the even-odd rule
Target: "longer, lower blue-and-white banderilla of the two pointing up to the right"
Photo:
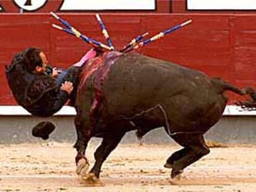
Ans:
{"type": "Polygon", "coordinates": [[[161,31],[161,32],[158,33],[157,35],[152,36],[151,38],[149,38],[149,39],[147,39],[147,40],[145,40],[145,41],[140,42],[139,44],[137,44],[136,46],[134,46],[134,49],[138,49],[138,48],[144,46],[145,44],[148,44],[148,43],[151,43],[151,42],[153,42],[153,41],[159,40],[159,39],[162,38],[164,35],[167,35],[167,34],[173,32],[173,31],[176,31],[176,30],[178,30],[179,28],[182,28],[182,27],[184,27],[185,25],[187,25],[187,24],[189,24],[189,23],[191,23],[191,22],[192,22],[192,20],[190,19],[190,20],[187,20],[187,21],[184,22],[184,23],[181,23],[181,24],[179,24],[179,25],[175,25],[174,27],[171,27],[171,28],[169,28],[168,30],[161,31]]]}

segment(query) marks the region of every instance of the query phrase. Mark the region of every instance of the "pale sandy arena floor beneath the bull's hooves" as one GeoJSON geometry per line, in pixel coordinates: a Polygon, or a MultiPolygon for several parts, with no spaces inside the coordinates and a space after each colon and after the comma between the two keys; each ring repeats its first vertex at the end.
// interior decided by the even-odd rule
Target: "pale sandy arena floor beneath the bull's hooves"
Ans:
{"type": "MultiPolygon", "coordinates": [[[[88,157],[93,162],[95,145],[88,157]]],[[[174,145],[119,145],[103,164],[105,186],[85,186],[75,175],[72,144],[0,145],[0,191],[256,191],[256,146],[212,148],[177,185],[163,167],[174,145]]]]}

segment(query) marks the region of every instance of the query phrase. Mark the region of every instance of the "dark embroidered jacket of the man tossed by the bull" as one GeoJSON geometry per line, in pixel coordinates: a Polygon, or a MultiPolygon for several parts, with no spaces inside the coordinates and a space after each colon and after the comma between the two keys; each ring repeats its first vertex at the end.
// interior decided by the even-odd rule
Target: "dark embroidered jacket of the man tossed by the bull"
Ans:
{"type": "MultiPolygon", "coordinates": [[[[59,90],[56,80],[49,75],[35,75],[28,72],[23,64],[23,54],[17,54],[11,65],[6,67],[6,77],[17,103],[32,115],[49,117],[58,112],[69,99],[66,91],[59,90]]],[[[79,69],[70,67],[63,81],[79,83],[79,69]]],[[[74,89],[75,92],[75,89],[74,89]]],[[[74,102],[74,93],[71,101],[74,102]]]]}

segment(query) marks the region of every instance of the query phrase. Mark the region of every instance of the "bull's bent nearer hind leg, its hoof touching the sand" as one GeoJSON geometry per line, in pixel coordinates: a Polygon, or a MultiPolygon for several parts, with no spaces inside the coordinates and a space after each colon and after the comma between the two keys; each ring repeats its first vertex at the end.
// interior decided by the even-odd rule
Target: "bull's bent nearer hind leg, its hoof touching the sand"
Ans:
{"type": "Polygon", "coordinates": [[[205,144],[203,135],[200,133],[181,133],[173,135],[172,138],[181,146],[184,146],[184,151],[182,152],[185,154],[177,161],[174,161],[171,178],[178,177],[183,169],[210,152],[210,149],[205,144]]]}

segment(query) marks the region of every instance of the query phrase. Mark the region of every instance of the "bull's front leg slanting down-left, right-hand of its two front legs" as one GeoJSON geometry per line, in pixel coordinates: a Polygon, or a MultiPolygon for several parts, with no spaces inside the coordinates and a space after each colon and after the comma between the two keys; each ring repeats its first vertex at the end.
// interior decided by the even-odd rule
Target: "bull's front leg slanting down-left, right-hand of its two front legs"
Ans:
{"type": "Polygon", "coordinates": [[[92,170],[90,170],[90,173],[88,174],[88,177],[85,178],[85,180],[98,180],[103,162],[105,162],[109,154],[116,148],[124,135],[125,132],[110,133],[110,135],[107,135],[103,138],[103,141],[94,153],[95,164],[93,165],[92,170]]]}

